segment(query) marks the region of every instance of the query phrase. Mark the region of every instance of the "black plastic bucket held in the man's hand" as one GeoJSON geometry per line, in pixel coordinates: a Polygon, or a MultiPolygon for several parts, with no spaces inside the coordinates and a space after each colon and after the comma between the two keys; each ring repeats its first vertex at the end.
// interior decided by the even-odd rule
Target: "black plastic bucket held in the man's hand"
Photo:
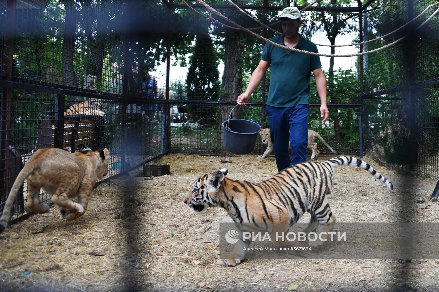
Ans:
{"type": "Polygon", "coordinates": [[[223,122],[224,148],[235,154],[248,154],[255,150],[261,131],[257,121],[231,119],[223,122]]]}

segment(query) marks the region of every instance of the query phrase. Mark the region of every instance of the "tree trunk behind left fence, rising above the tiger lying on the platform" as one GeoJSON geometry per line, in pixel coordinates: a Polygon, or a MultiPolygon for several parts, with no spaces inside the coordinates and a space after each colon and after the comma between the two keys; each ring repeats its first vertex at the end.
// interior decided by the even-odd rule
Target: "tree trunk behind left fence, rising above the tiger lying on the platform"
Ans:
{"type": "MultiPolygon", "coordinates": [[[[64,39],[62,41],[62,79],[66,86],[77,87],[75,66],[73,64],[76,40],[76,11],[71,0],[65,1],[64,39]]],[[[78,96],[69,96],[68,100],[79,102],[78,96]]]]}

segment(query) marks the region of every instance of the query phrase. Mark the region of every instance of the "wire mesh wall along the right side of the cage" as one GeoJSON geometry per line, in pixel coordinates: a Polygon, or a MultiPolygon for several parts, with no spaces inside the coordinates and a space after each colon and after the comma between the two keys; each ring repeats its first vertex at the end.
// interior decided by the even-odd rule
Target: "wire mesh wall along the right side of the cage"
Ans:
{"type": "MultiPolygon", "coordinates": [[[[405,25],[435,1],[385,7],[372,4],[364,14],[367,36],[374,39],[405,25]],[[384,21],[385,19],[385,21],[384,21]],[[389,21],[390,20],[390,21],[389,21]]],[[[384,46],[405,35],[405,41],[364,58],[364,145],[383,164],[423,178],[439,178],[438,130],[438,18],[434,7],[392,36],[370,43],[366,50],[384,46]]]]}

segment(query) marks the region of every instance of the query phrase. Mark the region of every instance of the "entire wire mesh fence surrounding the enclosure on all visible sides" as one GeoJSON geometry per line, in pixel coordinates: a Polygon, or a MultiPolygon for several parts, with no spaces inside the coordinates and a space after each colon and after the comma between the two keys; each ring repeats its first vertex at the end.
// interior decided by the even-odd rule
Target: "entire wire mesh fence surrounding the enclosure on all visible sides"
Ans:
{"type": "MultiPolygon", "coordinates": [[[[204,16],[180,0],[0,0],[0,211],[18,172],[41,148],[106,147],[111,180],[165,153],[230,155],[222,127],[229,118],[270,127],[270,69],[247,106],[234,108],[261,60],[263,41],[187,2],[204,16]]],[[[261,36],[280,35],[279,24],[261,28],[228,1],[207,2],[261,36]]],[[[320,57],[330,118],[321,123],[311,76],[309,129],[341,154],[359,155],[363,146],[389,167],[438,179],[439,18],[416,29],[433,9],[373,43],[320,46],[381,37],[435,0],[348,2],[322,1],[302,12],[301,36],[319,44],[320,53],[370,51],[409,36],[363,57],[320,57]]],[[[266,24],[277,22],[280,7],[289,4],[235,3],[266,24]]],[[[321,154],[332,155],[316,142],[321,154]]],[[[252,154],[265,150],[258,137],[252,154]]],[[[14,218],[29,214],[27,192],[25,184],[14,218]]],[[[40,197],[50,200],[44,192],[40,197]]]]}

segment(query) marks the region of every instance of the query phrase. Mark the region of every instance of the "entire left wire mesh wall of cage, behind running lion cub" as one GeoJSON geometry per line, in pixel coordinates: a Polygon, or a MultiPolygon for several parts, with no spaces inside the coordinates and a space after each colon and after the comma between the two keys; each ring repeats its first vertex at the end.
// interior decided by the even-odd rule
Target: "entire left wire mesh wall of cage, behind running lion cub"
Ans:
{"type": "MultiPolygon", "coordinates": [[[[2,211],[18,172],[38,149],[106,147],[107,180],[168,151],[166,68],[156,64],[166,52],[155,47],[161,39],[131,33],[140,18],[155,22],[150,11],[167,17],[163,4],[0,4],[2,211]]],[[[29,213],[26,198],[25,184],[14,218],[29,213]]]]}

